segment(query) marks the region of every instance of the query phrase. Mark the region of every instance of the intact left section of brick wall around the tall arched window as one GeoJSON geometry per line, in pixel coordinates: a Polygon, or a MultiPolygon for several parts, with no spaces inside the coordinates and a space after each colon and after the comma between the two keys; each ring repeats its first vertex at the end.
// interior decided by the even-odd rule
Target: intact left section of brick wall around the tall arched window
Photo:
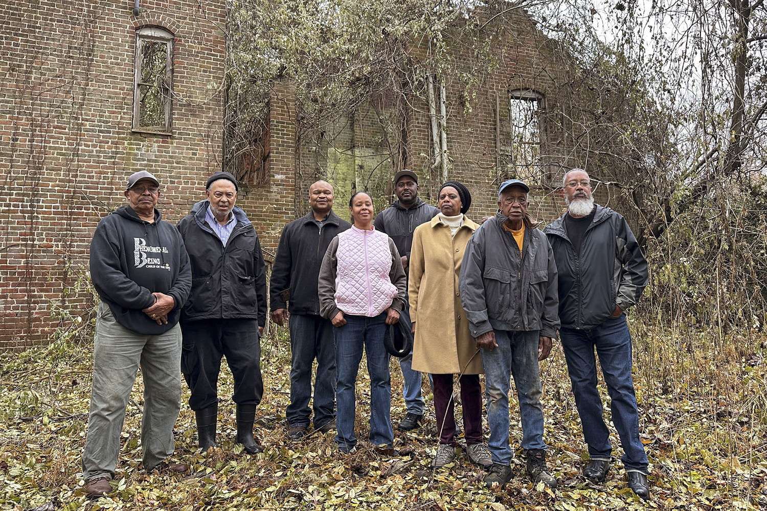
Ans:
{"type": "Polygon", "coordinates": [[[128,175],[155,173],[159,207],[175,222],[219,168],[223,3],[142,0],[139,16],[132,8],[0,7],[0,349],[44,339],[92,304],[83,280],[91,235],[123,203],[128,175]],[[146,25],[175,36],[172,136],[131,129],[135,32],[146,25]]]}

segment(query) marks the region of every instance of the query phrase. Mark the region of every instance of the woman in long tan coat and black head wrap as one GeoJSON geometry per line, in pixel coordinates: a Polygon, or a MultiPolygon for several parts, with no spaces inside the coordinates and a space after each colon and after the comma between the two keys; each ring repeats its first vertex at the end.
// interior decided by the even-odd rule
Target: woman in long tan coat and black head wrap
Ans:
{"type": "Polygon", "coordinates": [[[466,186],[449,181],[439,189],[439,214],[413,232],[410,252],[410,319],[413,322],[413,370],[433,378],[439,448],[433,468],[449,464],[456,455],[453,415],[453,375],[461,375],[463,431],[469,460],[492,465],[482,442],[482,357],[469,334],[469,321],[461,306],[458,277],[469,237],[478,224],[464,213],[472,198],[466,186]],[[453,300],[450,300],[450,297],[453,300]]]}

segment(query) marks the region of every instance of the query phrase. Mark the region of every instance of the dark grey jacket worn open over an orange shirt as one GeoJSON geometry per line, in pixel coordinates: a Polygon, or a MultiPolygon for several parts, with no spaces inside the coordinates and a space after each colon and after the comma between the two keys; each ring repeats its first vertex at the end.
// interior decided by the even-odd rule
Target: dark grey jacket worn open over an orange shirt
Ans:
{"type": "Polygon", "coordinates": [[[557,265],[543,232],[525,225],[522,254],[506,217],[490,218],[474,231],[461,263],[459,291],[472,337],[492,329],[540,330],[555,338],[559,329],[557,265]]]}

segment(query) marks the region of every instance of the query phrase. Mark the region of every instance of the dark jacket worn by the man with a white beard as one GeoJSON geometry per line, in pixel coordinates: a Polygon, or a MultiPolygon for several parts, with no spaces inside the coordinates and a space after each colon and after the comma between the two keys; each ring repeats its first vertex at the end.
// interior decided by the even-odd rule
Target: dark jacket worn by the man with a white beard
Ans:
{"type": "Polygon", "coordinates": [[[565,231],[565,213],[549,224],[548,236],[559,270],[559,317],[562,326],[591,329],[620,306],[637,303],[647,286],[647,260],[622,215],[596,206],[583,240],[581,254],[565,231]]]}

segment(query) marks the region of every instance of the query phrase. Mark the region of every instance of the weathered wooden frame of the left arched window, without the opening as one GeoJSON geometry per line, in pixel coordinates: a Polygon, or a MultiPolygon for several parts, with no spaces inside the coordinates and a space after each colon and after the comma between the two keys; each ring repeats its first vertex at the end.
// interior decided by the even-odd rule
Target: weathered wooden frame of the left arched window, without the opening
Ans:
{"type": "Polygon", "coordinates": [[[162,27],[141,27],[136,30],[136,48],[133,56],[133,132],[153,133],[155,135],[173,135],[173,40],[175,36],[172,32],[162,27]],[[150,127],[140,126],[141,120],[141,99],[140,87],[148,85],[140,81],[142,49],[144,41],[153,41],[166,44],[165,61],[165,80],[166,93],[165,99],[165,126],[164,129],[152,129],[150,127]]]}

